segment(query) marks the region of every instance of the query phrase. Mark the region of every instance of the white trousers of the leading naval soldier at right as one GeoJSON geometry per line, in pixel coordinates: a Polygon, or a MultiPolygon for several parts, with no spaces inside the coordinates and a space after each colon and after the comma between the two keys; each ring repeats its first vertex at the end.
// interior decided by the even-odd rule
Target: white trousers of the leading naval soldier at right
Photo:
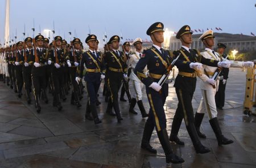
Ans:
{"type": "Polygon", "coordinates": [[[217,117],[217,109],[215,104],[216,89],[201,89],[201,93],[203,97],[201,98],[197,113],[205,113],[207,111],[210,119],[217,117]]]}

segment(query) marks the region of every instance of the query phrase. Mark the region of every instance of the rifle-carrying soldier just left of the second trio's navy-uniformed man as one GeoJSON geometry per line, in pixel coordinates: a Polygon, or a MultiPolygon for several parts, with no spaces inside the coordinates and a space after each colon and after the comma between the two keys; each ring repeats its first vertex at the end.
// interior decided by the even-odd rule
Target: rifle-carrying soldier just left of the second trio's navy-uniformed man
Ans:
{"type": "Polygon", "coordinates": [[[80,71],[79,63],[82,58],[82,51],[80,50],[80,39],[74,38],[72,41],[73,48],[69,51],[69,61],[71,62],[71,67],[69,67],[69,76],[72,83],[72,94],[71,94],[71,104],[81,107],[79,101],[79,85],[77,84],[76,77],[77,72],[80,71]],[[75,54],[75,55],[74,55],[75,54]]]}

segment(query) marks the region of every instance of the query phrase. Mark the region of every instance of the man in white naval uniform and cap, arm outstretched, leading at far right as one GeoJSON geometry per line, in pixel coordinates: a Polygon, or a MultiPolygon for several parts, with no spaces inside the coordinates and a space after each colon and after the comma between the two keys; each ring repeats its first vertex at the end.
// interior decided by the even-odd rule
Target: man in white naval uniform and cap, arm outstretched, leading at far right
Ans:
{"type": "MultiPolygon", "coordinates": [[[[220,55],[213,51],[214,46],[214,36],[213,31],[209,30],[201,37],[199,40],[202,40],[205,45],[205,50],[201,52],[201,55],[205,58],[221,61],[220,55]]],[[[223,61],[227,64],[230,64],[232,67],[242,67],[242,66],[253,66],[253,62],[235,62],[235,61],[223,61]]],[[[195,115],[195,127],[199,137],[206,138],[206,136],[200,132],[200,125],[204,117],[205,111],[207,111],[209,115],[210,126],[212,126],[213,131],[216,135],[218,145],[227,145],[233,143],[233,140],[227,139],[224,135],[222,135],[220,126],[218,124],[217,119],[217,109],[215,104],[214,96],[218,89],[219,79],[216,81],[212,79],[214,72],[216,72],[217,67],[210,67],[203,65],[203,69],[201,70],[202,74],[199,75],[200,81],[200,89],[202,93],[201,102],[199,108],[197,109],[197,113],[195,115]]]]}

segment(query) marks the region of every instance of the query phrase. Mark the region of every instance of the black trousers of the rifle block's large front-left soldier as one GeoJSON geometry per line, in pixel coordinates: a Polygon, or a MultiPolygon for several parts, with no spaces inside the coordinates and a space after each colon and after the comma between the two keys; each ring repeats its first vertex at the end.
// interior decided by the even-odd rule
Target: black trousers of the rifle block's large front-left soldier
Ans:
{"type": "Polygon", "coordinates": [[[46,89],[46,67],[32,67],[31,74],[34,94],[40,95],[41,89],[46,89]]]}

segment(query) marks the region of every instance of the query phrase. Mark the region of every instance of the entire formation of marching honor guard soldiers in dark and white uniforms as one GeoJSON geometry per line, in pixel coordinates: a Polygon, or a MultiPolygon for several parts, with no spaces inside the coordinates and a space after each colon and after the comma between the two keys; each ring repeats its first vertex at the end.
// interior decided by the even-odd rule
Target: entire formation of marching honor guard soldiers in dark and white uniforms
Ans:
{"type": "Polygon", "coordinates": [[[50,44],[49,39],[42,35],[27,37],[1,48],[0,80],[13,89],[18,98],[26,97],[27,104],[35,104],[37,113],[44,113],[45,104],[52,104],[56,110],[61,111],[61,102],[70,101],[76,108],[84,108],[86,120],[92,120],[95,124],[102,123],[97,106],[101,105],[98,91],[101,83],[104,83],[103,95],[108,102],[105,113],[121,123],[123,118],[119,101],[129,105],[127,111],[131,115],[138,114],[134,109],[138,105],[142,118],[147,118],[141,148],[157,153],[150,145],[155,129],[166,163],[184,162],[183,158],[173,152],[171,145],[185,144],[178,137],[183,119],[196,153],[210,152],[201,143],[201,139],[207,138],[200,132],[205,113],[209,116],[209,124],[218,145],[232,144],[233,141],[221,131],[217,108],[224,107],[229,67],[253,67],[254,63],[230,61],[224,53],[226,46],[221,43],[217,44],[218,49],[214,51],[212,30],[199,37],[205,50],[192,49],[189,25],[181,27],[176,34],[182,44],[179,50],[163,49],[163,29],[164,25],[160,22],[147,29],[146,34],[150,36],[153,45],[146,50],[142,50],[143,41],[139,37],[131,44],[120,44],[120,37],[114,35],[105,44],[104,52],[98,51],[96,35],[86,37],[85,43],[89,47],[86,51],[83,50],[81,40],[76,37],[68,43],[62,37],[55,36],[50,44]],[[135,51],[130,50],[130,45],[134,46],[135,51]],[[119,50],[120,46],[122,51],[119,50]],[[172,82],[168,76],[174,66],[179,70],[174,84],[179,103],[168,135],[164,104],[168,96],[168,84],[172,82]],[[197,79],[200,79],[202,98],[194,113],[192,98],[197,79]],[[143,93],[143,87],[146,88],[146,94],[143,93]],[[69,91],[71,100],[66,97],[69,91]],[[149,111],[144,108],[143,94],[147,95],[149,111]],[[128,100],[125,100],[125,95],[128,100]],[[52,102],[49,102],[49,96],[53,96],[52,102]],[[80,103],[85,96],[88,97],[86,105],[80,103]]]}

